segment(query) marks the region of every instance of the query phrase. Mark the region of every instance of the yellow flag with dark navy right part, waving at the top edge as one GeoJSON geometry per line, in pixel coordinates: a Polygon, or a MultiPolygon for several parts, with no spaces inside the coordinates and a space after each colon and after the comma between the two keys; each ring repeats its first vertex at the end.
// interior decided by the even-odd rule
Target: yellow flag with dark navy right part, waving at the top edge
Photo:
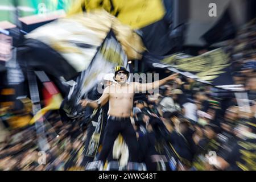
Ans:
{"type": "Polygon", "coordinates": [[[170,0],[78,0],[68,14],[104,9],[136,30],[149,52],[167,55],[182,44],[185,30],[183,24],[174,25],[174,6],[170,0]]]}

